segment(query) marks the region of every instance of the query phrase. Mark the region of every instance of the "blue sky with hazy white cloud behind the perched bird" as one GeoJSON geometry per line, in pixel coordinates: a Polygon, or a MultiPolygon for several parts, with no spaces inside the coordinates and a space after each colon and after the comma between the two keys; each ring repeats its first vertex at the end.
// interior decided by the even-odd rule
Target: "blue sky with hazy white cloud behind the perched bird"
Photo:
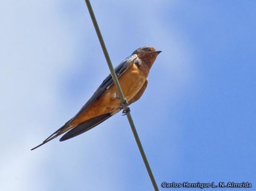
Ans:
{"type": "MultiPolygon", "coordinates": [[[[131,106],[159,188],[249,181],[255,189],[256,2],[91,3],[114,66],[138,47],[162,50],[131,106]]],[[[153,190],[121,114],[30,151],[109,74],[85,2],[1,1],[0,18],[2,189],[153,190]]]]}

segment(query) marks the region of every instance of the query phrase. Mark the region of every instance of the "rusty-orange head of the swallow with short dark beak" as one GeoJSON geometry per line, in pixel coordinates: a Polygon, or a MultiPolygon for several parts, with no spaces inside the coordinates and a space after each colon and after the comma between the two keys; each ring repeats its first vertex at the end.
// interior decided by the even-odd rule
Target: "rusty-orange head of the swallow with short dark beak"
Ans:
{"type": "Polygon", "coordinates": [[[148,64],[149,67],[152,66],[154,63],[156,57],[161,53],[161,51],[156,50],[153,47],[144,46],[141,48],[138,48],[133,52],[133,54],[136,54],[139,59],[143,60],[145,63],[148,64]]]}

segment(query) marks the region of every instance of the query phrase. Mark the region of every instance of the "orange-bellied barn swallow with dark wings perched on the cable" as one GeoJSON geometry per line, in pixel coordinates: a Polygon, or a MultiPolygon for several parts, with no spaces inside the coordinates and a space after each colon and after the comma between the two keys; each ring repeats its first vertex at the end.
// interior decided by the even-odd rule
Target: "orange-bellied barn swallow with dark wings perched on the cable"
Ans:
{"type": "MultiPolygon", "coordinates": [[[[117,74],[128,105],[141,98],[147,87],[147,76],[150,68],[160,53],[161,51],[157,51],[153,47],[141,47],[115,67],[115,74],[117,74]]],[[[80,135],[117,114],[122,108],[112,76],[108,75],[74,117],[46,138],[43,143],[31,150],[42,146],[65,132],[67,133],[60,138],[60,141],[80,135]]]]}

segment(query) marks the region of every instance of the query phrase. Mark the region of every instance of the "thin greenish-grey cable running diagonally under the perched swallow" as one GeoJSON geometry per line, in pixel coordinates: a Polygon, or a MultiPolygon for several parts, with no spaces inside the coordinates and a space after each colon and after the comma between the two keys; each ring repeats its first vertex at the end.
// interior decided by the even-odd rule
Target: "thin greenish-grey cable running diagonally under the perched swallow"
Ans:
{"type": "Polygon", "coordinates": [[[90,18],[92,18],[93,25],[94,25],[95,31],[96,31],[96,33],[97,33],[97,36],[98,36],[98,40],[100,41],[101,48],[102,48],[103,53],[104,53],[104,56],[105,56],[105,58],[106,58],[106,62],[107,62],[108,65],[109,65],[109,70],[110,70],[110,72],[111,72],[112,79],[113,79],[113,81],[114,81],[115,86],[117,86],[117,90],[118,90],[118,94],[119,94],[120,99],[121,99],[121,103],[122,103],[122,106],[123,106],[123,110],[124,110],[125,113],[126,113],[126,116],[127,116],[127,118],[128,118],[129,124],[130,124],[130,126],[131,126],[131,130],[133,131],[134,138],[135,138],[136,143],[137,143],[137,145],[138,145],[139,152],[141,152],[142,159],[143,159],[144,164],[145,164],[146,169],[147,169],[147,173],[148,173],[148,175],[150,176],[150,179],[151,179],[151,182],[152,182],[152,185],[153,185],[155,191],[158,191],[158,190],[159,190],[159,189],[158,189],[158,185],[156,185],[156,182],[155,182],[153,173],[152,173],[151,168],[150,168],[150,164],[149,164],[148,161],[147,161],[146,154],[145,154],[145,152],[144,152],[144,150],[143,150],[141,141],[139,140],[139,136],[138,136],[138,134],[137,134],[137,131],[136,131],[136,128],[135,128],[135,125],[134,125],[133,118],[131,118],[131,115],[130,115],[130,109],[129,109],[129,107],[128,107],[127,100],[126,100],[126,98],[125,98],[125,95],[124,95],[123,92],[122,92],[122,89],[121,89],[121,86],[120,86],[120,84],[119,84],[117,75],[116,75],[115,72],[114,72],[114,67],[113,67],[113,65],[112,65],[112,63],[111,63],[111,60],[110,60],[110,57],[109,57],[109,54],[108,54],[108,50],[106,49],[104,40],[103,40],[102,35],[101,35],[100,28],[98,27],[98,24],[97,24],[95,15],[94,15],[94,13],[93,13],[92,5],[90,5],[90,1],[89,1],[89,0],[85,0],[85,3],[86,3],[86,5],[87,5],[88,11],[89,11],[89,13],[90,13],[90,18]]]}

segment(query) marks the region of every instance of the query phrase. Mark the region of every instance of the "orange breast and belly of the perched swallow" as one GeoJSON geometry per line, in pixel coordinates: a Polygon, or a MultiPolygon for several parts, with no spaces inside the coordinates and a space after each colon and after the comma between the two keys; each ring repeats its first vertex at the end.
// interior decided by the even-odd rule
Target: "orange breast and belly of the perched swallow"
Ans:
{"type": "MultiPolygon", "coordinates": [[[[128,68],[125,73],[119,76],[118,80],[123,94],[125,94],[125,97],[129,102],[138,93],[138,91],[141,90],[144,82],[146,81],[146,76],[138,70],[135,64],[133,64],[133,66],[128,68]]],[[[102,114],[115,114],[115,112],[118,112],[121,109],[120,99],[117,97],[117,89],[115,85],[112,84],[109,89],[96,99],[84,112],[77,116],[70,126],[75,126],[102,114]]]]}

